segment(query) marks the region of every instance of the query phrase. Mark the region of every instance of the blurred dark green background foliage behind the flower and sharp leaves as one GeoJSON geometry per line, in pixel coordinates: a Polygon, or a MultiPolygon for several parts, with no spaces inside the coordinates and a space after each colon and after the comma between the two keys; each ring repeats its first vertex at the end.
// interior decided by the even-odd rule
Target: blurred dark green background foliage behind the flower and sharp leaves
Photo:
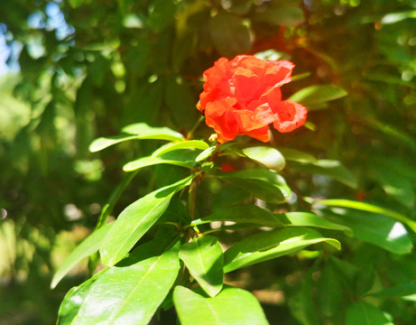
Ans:
{"type": "MultiPolygon", "coordinates": [[[[288,164],[283,173],[298,197],[361,200],[415,218],[415,18],[415,0],[2,0],[1,51],[14,72],[0,79],[2,323],[56,320],[63,295],[88,268],[79,266],[54,291],[52,272],[94,228],[123,163],[156,147],[128,142],[92,154],[88,144],[134,122],[186,134],[199,118],[202,72],[221,56],[261,52],[295,62],[301,78],[282,88],[283,98],[311,85],[347,90],[347,98],[309,107],[307,127],[273,134],[273,145],[340,161],[357,180],[347,186],[328,169],[288,164]]],[[[197,131],[209,134],[208,127],[197,131]]],[[[140,172],[115,216],[177,173],[140,172]]],[[[208,190],[199,213],[239,195],[215,184],[208,190]]],[[[393,243],[390,219],[325,213],[355,231],[353,238],[337,234],[340,253],[316,259],[300,251],[227,281],[254,290],[272,324],[343,324],[346,317],[359,324],[347,314],[353,305],[414,324],[414,235],[399,229],[404,235],[393,243]],[[395,291],[370,295],[383,287],[395,291]]]]}

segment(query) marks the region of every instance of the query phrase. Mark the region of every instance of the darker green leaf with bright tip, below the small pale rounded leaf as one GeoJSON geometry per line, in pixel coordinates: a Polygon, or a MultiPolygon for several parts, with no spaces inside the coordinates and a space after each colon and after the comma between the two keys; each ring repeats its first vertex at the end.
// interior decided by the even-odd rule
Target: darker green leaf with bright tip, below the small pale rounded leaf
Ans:
{"type": "Polygon", "coordinates": [[[251,169],[222,172],[217,173],[216,176],[267,202],[282,203],[291,196],[291,189],[286,184],[286,181],[284,181],[281,175],[273,171],[251,169]]]}

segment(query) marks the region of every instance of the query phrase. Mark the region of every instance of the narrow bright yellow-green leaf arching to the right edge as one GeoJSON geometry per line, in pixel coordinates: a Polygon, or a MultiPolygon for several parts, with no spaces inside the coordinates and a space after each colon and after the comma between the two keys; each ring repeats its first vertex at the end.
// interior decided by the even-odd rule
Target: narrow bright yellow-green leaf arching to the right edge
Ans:
{"type": "Polygon", "coordinates": [[[373,204],[365,203],[365,202],[359,202],[354,200],[317,200],[313,202],[313,205],[326,205],[328,207],[340,207],[340,208],[348,208],[348,209],[357,209],[367,212],[373,212],[382,214],[384,216],[396,219],[397,221],[402,222],[403,224],[409,226],[411,230],[416,232],[416,221],[411,220],[410,218],[407,218],[406,216],[402,215],[399,212],[393,211],[391,209],[385,209],[378,206],[375,206],[373,204]]]}

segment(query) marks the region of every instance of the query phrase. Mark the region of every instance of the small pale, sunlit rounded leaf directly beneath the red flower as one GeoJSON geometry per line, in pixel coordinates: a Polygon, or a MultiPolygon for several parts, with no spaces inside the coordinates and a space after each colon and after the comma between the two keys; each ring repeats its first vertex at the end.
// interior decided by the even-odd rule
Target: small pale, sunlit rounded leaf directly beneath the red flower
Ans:
{"type": "Polygon", "coordinates": [[[274,171],[279,172],[284,168],[285,162],[282,153],[273,147],[255,146],[242,149],[242,152],[247,158],[274,171]]]}

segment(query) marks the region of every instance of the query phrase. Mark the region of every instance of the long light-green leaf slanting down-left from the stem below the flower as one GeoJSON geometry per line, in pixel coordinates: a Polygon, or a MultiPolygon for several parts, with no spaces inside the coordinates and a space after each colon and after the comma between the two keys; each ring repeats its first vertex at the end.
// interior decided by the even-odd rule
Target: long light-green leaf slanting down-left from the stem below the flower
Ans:
{"type": "Polygon", "coordinates": [[[105,265],[115,265],[143,237],[168,208],[172,196],[190,185],[193,175],[174,184],[154,190],[125,208],[99,249],[105,265]]]}

